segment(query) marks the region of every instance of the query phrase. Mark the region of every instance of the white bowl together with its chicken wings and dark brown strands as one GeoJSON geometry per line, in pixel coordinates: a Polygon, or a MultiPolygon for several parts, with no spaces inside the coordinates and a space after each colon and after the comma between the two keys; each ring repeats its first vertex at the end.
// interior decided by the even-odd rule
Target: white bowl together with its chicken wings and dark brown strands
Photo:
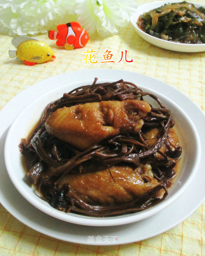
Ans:
{"type": "Polygon", "coordinates": [[[155,214],[188,186],[200,143],[191,120],[172,101],[122,79],[96,78],[61,96],[53,91],[32,102],[6,139],[9,176],[37,208],[77,224],[119,225],[155,214]],[[11,152],[18,139],[20,150],[11,152]],[[11,154],[17,157],[12,162],[11,154]]]}

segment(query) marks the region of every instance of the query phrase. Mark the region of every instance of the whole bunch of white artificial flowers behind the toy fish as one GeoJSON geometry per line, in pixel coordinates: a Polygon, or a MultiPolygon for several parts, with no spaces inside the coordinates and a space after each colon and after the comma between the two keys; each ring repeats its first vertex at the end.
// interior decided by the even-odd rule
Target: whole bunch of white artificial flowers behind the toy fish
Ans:
{"type": "Polygon", "coordinates": [[[0,32],[47,33],[62,23],[78,21],[92,35],[114,35],[135,12],[135,0],[0,0],[0,32]]]}

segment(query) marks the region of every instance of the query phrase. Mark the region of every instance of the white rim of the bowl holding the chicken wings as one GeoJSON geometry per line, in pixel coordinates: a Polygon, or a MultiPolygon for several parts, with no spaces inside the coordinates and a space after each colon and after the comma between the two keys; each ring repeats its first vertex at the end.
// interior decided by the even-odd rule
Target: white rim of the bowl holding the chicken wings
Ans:
{"type": "MultiPolygon", "coordinates": [[[[108,80],[112,81],[111,79],[108,79],[108,80]]],[[[201,153],[200,147],[201,147],[201,145],[200,145],[199,135],[198,135],[198,132],[197,132],[193,122],[191,121],[189,116],[186,114],[186,112],[183,111],[183,109],[181,109],[178,105],[176,105],[176,103],[174,103],[172,100],[168,99],[168,97],[161,94],[160,92],[157,92],[153,89],[150,89],[150,88],[147,88],[147,87],[141,86],[141,85],[139,87],[142,87],[143,90],[144,90],[144,88],[146,88],[149,92],[154,92],[155,94],[160,95],[160,97],[166,98],[166,100],[168,100],[168,102],[170,102],[173,106],[175,105],[176,108],[180,109],[180,111],[183,113],[183,115],[186,117],[186,119],[189,120],[189,124],[191,125],[191,128],[194,131],[193,134],[194,134],[194,138],[195,138],[196,145],[197,145],[196,161],[194,163],[192,173],[190,174],[190,176],[187,179],[187,181],[185,182],[185,184],[183,184],[180,187],[179,191],[177,193],[175,193],[175,196],[172,196],[169,199],[166,198],[167,200],[162,201],[158,205],[153,206],[153,207],[151,207],[147,210],[144,210],[144,211],[141,211],[141,212],[138,212],[138,213],[132,213],[132,214],[120,215],[120,216],[114,216],[114,217],[101,217],[101,218],[99,218],[99,217],[89,217],[89,216],[83,216],[82,217],[82,215],[78,215],[78,214],[75,214],[75,213],[69,213],[69,214],[68,213],[62,213],[62,212],[59,212],[58,210],[56,210],[54,208],[50,208],[51,206],[49,204],[48,204],[48,207],[47,206],[45,207],[43,204],[40,204],[40,206],[39,206],[38,205],[39,202],[36,200],[36,198],[33,198],[33,196],[30,198],[30,196],[26,193],[26,191],[24,191],[24,189],[21,186],[21,184],[19,183],[19,181],[15,180],[14,177],[12,176],[13,166],[11,164],[12,161],[10,161],[8,159],[8,155],[10,154],[9,143],[11,143],[13,130],[15,129],[16,122],[18,122],[19,118],[21,116],[24,116],[24,112],[26,112],[34,104],[35,101],[43,99],[47,94],[55,93],[58,90],[62,90],[63,87],[69,87],[69,86],[70,85],[61,86],[57,89],[49,91],[49,92],[43,94],[42,96],[36,98],[34,101],[29,103],[29,105],[27,105],[19,113],[19,115],[16,117],[16,119],[12,123],[11,127],[9,128],[9,131],[8,131],[8,134],[7,134],[7,137],[6,137],[6,141],[5,141],[5,164],[6,164],[6,168],[7,168],[7,172],[9,174],[9,177],[11,178],[13,184],[15,185],[17,190],[20,192],[20,194],[22,194],[26,198],[27,201],[29,201],[31,204],[33,204],[35,207],[37,207],[39,210],[57,218],[57,219],[67,221],[67,222],[71,222],[71,223],[75,223],[75,224],[91,225],[91,226],[122,225],[122,224],[127,224],[127,223],[131,223],[131,222],[139,221],[139,220],[145,219],[147,217],[150,217],[153,214],[156,214],[157,212],[159,212],[160,210],[162,210],[163,208],[165,208],[169,204],[171,204],[174,200],[176,200],[180,196],[180,194],[188,187],[188,185],[190,184],[191,180],[195,176],[196,171],[198,169],[199,162],[200,162],[200,157],[201,157],[200,156],[200,153],[201,153]],[[57,213],[58,216],[56,216],[56,213],[57,213]],[[88,223],[88,220],[90,220],[89,223],[88,223]]],[[[72,89],[72,86],[71,86],[71,89],[72,89]]]]}

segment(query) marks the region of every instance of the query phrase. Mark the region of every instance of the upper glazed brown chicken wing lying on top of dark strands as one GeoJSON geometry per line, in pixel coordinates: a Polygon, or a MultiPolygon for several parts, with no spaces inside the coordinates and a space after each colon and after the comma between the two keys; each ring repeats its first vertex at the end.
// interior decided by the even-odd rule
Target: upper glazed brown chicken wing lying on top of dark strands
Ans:
{"type": "Polygon", "coordinates": [[[101,101],[56,110],[46,121],[49,134],[81,150],[120,133],[137,133],[151,111],[142,100],[101,101]]]}

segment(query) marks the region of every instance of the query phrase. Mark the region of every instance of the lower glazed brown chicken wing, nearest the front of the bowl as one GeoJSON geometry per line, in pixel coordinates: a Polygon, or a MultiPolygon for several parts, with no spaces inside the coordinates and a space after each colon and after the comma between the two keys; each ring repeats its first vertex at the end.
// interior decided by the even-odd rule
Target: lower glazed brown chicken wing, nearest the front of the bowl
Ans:
{"type": "MultiPolygon", "coordinates": [[[[149,164],[136,169],[114,166],[110,168],[110,172],[105,169],[93,173],[68,174],[59,180],[59,186],[66,183],[81,200],[94,205],[130,202],[160,184],[153,178],[149,164]]],[[[159,197],[163,192],[162,189],[159,197]]]]}

